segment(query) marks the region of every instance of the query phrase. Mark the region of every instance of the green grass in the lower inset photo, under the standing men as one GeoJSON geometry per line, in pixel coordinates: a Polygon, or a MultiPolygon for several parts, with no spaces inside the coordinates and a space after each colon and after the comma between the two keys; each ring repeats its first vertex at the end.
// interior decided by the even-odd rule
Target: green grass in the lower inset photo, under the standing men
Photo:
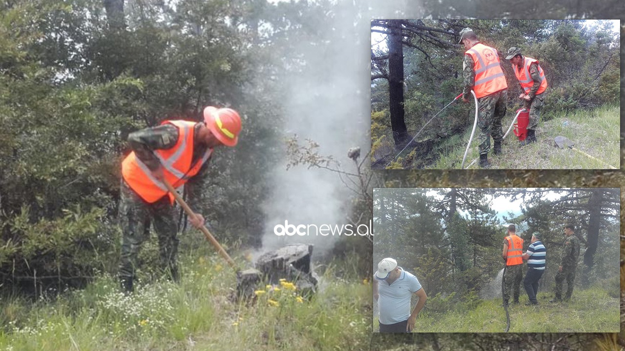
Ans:
{"type": "MultiPolygon", "coordinates": [[[[521,288],[522,289],[522,288],[521,288]]],[[[510,305],[509,332],[619,332],[619,299],[610,297],[602,287],[574,290],[569,302],[552,304],[551,292],[539,292],[537,306],[521,303],[510,305]]],[[[427,307],[427,303],[426,303],[427,307]]],[[[454,310],[442,315],[428,314],[424,309],[417,318],[415,332],[486,332],[506,329],[506,314],[501,299],[482,300],[471,310],[454,310]]],[[[374,330],[379,322],[374,319],[374,330]]]]}

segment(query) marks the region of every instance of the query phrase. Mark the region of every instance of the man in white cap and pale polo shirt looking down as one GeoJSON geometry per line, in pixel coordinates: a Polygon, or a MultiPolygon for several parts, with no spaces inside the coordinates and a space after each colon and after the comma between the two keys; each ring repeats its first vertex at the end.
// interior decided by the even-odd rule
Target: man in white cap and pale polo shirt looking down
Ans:
{"type": "Polygon", "coordinates": [[[398,267],[396,260],[386,258],[377,264],[374,278],[373,298],[377,300],[380,311],[380,332],[411,332],[417,315],[427,300],[426,292],[417,277],[398,267]],[[412,294],[419,297],[419,302],[410,313],[412,294]]]}

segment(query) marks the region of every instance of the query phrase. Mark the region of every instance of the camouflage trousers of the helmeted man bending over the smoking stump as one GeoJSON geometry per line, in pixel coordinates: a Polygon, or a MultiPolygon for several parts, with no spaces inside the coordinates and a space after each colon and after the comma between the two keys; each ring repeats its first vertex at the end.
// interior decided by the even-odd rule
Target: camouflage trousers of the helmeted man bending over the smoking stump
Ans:
{"type": "Polygon", "coordinates": [[[149,238],[150,224],[159,242],[159,268],[163,274],[178,280],[178,224],[176,210],[164,196],[153,204],[148,204],[139,197],[128,184],[121,181],[121,200],[119,203],[119,222],[122,230],[121,257],[119,260],[119,279],[135,277],[138,265],[139,249],[149,238]]]}

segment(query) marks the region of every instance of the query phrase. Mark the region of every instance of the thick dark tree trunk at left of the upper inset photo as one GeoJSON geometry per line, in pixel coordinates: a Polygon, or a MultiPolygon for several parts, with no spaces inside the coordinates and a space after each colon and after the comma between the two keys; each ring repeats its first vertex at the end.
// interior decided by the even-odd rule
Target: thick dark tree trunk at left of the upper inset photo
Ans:
{"type": "Polygon", "coordinates": [[[408,132],[404,121],[404,53],[401,44],[401,21],[391,19],[389,27],[389,111],[395,147],[404,147],[408,132]]]}

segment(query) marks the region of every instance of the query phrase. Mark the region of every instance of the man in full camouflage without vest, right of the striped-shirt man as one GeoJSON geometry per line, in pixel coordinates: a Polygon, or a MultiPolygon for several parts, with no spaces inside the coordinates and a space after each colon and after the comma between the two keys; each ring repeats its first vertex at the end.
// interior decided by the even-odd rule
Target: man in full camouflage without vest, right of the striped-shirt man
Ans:
{"type": "Polygon", "coordinates": [[[564,245],[562,246],[562,261],[556,273],[556,297],[550,302],[562,301],[562,282],[566,279],[567,290],[564,300],[571,299],[573,294],[573,282],[575,270],[577,268],[577,258],[579,257],[579,239],[575,236],[575,226],[567,224],[564,226],[564,245]]]}

